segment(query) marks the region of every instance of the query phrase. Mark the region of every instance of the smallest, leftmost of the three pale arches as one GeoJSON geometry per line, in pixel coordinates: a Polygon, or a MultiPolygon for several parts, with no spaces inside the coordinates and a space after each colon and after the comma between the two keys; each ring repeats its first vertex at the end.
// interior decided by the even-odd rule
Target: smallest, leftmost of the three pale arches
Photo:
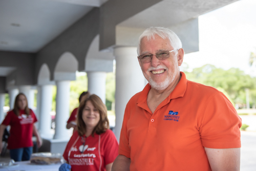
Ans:
{"type": "Polygon", "coordinates": [[[51,72],[46,63],[43,63],[40,67],[38,76],[37,76],[37,84],[45,85],[45,84],[53,84],[53,81],[50,80],[51,72]]]}

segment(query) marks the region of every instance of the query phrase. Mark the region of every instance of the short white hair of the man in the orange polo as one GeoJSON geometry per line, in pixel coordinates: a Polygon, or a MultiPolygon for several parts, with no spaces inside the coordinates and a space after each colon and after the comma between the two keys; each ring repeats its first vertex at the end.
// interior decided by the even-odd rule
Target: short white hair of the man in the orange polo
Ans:
{"type": "Polygon", "coordinates": [[[170,45],[174,48],[175,53],[182,48],[182,43],[180,38],[170,29],[164,27],[150,27],[147,28],[139,37],[139,44],[137,47],[138,56],[140,55],[140,42],[143,37],[146,37],[148,40],[155,39],[155,35],[160,36],[163,39],[169,39],[170,45]]]}

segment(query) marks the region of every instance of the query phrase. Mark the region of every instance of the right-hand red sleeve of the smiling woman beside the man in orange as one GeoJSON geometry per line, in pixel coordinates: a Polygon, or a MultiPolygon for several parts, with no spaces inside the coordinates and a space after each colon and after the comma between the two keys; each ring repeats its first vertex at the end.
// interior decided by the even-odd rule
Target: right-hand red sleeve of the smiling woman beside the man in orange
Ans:
{"type": "Polygon", "coordinates": [[[104,145],[104,161],[105,164],[113,163],[118,156],[118,142],[115,134],[108,130],[108,137],[106,137],[104,145]]]}

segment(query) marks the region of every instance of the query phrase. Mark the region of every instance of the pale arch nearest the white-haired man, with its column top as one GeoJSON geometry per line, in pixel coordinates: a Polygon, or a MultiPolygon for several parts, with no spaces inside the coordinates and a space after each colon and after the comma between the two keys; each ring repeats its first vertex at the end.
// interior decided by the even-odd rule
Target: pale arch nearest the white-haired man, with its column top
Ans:
{"type": "Polygon", "coordinates": [[[113,52],[99,51],[99,34],[95,36],[87,51],[85,71],[113,71],[113,52]]]}

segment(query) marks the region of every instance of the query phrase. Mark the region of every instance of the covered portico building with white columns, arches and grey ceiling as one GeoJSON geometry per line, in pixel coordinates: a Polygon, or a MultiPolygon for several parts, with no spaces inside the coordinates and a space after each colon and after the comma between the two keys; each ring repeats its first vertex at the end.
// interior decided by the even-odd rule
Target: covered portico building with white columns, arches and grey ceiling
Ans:
{"type": "MultiPolygon", "coordinates": [[[[70,81],[87,72],[88,90],[105,101],[106,72],[116,60],[116,127],[119,140],[127,101],[146,80],[137,59],[139,35],[150,26],[172,29],[186,53],[199,51],[198,16],[237,0],[3,0],[0,2],[0,119],[18,92],[38,90],[42,138],[65,146],[70,81]],[[50,135],[52,86],[57,86],[55,134],[50,135]]],[[[52,147],[51,151],[54,151],[52,147]]],[[[55,148],[56,149],[56,148],[55,148]]],[[[58,151],[59,149],[56,149],[58,151]]],[[[55,151],[54,151],[55,152],[55,151]]]]}

